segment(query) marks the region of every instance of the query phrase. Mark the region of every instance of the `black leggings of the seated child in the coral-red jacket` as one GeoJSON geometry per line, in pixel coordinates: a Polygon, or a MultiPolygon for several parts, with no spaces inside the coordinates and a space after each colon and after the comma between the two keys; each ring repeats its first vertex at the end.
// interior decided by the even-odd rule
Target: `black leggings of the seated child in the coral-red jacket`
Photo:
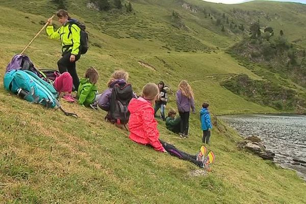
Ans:
{"type": "Polygon", "coordinates": [[[186,153],[185,151],[181,151],[179,149],[177,149],[175,146],[173,146],[172,144],[169,144],[167,142],[164,142],[162,140],[159,140],[164,149],[166,149],[166,151],[171,155],[171,156],[174,156],[174,157],[178,157],[182,160],[186,160],[186,161],[189,161],[199,167],[202,167],[203,166],[203,163],[201,161],[197,161],[196,160],[196,155],[189,155],[188,153],[186,153]]]}

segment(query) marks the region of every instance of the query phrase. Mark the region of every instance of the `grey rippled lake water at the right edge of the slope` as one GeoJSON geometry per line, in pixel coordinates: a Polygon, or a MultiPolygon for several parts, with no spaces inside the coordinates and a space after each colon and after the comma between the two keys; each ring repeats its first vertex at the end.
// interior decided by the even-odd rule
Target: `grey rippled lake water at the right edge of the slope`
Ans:
{"type": "Polygon", "coordinates": [[[275,153],[275,162],[297,170],[306,179],[306,167],[293,161],[306,161],[306,116],[252,114],[220,118],[243,137],[261,138],[266,148],[275,153]]]}

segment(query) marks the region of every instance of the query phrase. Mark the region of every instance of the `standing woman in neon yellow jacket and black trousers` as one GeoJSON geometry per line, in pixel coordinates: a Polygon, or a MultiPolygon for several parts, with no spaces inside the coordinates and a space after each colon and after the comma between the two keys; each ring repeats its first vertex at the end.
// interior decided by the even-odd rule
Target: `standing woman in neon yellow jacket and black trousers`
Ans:
{"type": "Polygon", "coordinates": [[[80,82],[77,69],[75,68],[75,62],[81,57],[81,29],[73,23],[75,20],[70,18],[67,11],[61,9],[56,15],[58,21],[61,23],[61,27],[55,31],[52,25],[52,19],[49,18],[46,33],[50,39],[60,39],[62,41],[62,58],[58,61],[58,68],[60,73],[65,71],[70,73],[74,88],[77,90],[80,82]]]}

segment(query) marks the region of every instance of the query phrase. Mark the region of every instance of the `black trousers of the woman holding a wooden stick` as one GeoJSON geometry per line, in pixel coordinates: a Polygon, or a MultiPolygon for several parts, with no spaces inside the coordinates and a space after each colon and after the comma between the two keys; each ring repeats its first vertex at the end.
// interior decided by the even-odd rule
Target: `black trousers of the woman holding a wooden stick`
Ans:
{"type": "Polygon", "coordinates": [[[65,71],[68,71],[72,77],[72,81],[73,81],[73,86],[75,90],[78,90],[79,88],[79,77],[78,77],[78,73],[77,73],[77,69],[75,67],[75,62],[77,62],[81,55],[77,55],[75,56],[75,61],[74,62],[70,62],[70,52],[63,54],[62,58],[58,61],[58,67],[59,67],[59,71],[60,73],[64,73],[65,71]]]}

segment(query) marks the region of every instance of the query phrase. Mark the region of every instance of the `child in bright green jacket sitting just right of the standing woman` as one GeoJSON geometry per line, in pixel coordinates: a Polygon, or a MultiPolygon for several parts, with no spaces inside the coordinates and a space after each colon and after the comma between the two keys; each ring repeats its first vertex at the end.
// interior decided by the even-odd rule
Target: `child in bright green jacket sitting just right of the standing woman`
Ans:
{"type": "Polygon", "coordinates": [[[85,72],[85,78],[80,80],[78,88],[78,100],[80,105],[89,107],[95,101],[97,88],[95,84],[98,81],[98,72],[95,68],[90,67],[85,72]]]}

